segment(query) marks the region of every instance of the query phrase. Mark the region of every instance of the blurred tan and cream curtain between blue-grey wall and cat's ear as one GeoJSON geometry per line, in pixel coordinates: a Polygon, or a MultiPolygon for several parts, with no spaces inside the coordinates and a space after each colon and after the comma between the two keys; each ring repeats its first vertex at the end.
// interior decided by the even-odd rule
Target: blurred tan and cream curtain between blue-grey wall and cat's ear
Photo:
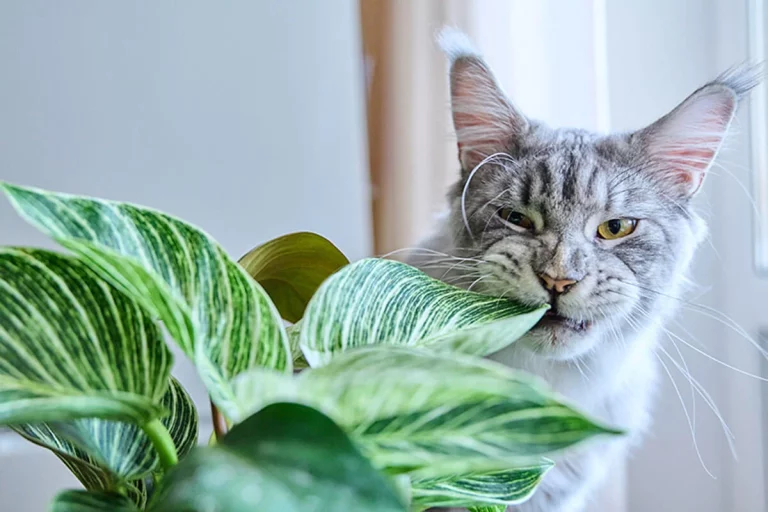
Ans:
{"type": "Polygon", "coordinates": [[[412,245],[458,173],[450,138],[444,24],[469,29],[472,2],[361,0],[377,254],[412,245]]]}

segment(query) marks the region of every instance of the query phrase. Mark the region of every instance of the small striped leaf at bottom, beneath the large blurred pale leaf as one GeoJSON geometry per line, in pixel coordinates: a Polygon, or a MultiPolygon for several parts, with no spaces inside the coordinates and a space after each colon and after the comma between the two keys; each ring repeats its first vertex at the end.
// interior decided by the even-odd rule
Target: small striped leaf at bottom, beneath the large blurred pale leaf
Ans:
{"type": "Polygon", "coordinates": [[[412,502],[423,508],[483,504],[504,510],[529,499],[552,466],[543,462],[508,471],[417,479],[411,483],[412,502]]]}

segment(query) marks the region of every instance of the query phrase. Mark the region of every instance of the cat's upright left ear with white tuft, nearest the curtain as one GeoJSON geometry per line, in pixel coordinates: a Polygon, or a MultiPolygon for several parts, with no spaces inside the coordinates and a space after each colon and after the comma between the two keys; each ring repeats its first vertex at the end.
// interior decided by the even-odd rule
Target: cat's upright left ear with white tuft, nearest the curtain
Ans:
{"type": "Polygon", "coordinates": [[[507,99],[467,36],[444,28],[438,42],[450,60],[453,126],[459,161],[468,172],[484,158],[508,151],[528,129],[528,121],[507,99]]]}

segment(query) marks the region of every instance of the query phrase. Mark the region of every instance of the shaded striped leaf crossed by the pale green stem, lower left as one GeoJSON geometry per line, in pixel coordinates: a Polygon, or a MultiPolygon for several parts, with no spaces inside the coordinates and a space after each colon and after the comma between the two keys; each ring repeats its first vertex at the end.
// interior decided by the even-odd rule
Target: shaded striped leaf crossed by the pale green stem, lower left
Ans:
{"type": "MultiPolygon", "coordinates": [[[[197,444],[197,410],[176,379],[162,399],[170,411],[161,419],[176,446],[179,458],[197,444]]],[[[136,505],[146,502],[143,478],[160,472],[157,452],[136,425],[81,419],[67,423],[15,425],[13,429],[39,446],[53,451],[92,491],[129,490],[136,505]]]]}

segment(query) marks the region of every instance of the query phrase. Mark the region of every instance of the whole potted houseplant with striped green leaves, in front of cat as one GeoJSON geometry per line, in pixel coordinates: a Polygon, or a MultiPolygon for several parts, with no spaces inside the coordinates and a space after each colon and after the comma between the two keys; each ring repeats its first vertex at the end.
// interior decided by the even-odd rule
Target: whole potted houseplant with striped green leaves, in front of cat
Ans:
{"type": "Polygon", "coordinates": [[[0,424],[82,482],[56,512],[504,510],[547,455],[618,433],[482,359],[542,308],[309,233],[238,264],[161,212],[2,188],[68,251],[0,249],[0,424]],[[215,406],[208,447],[163,330],[215,406]]]}

